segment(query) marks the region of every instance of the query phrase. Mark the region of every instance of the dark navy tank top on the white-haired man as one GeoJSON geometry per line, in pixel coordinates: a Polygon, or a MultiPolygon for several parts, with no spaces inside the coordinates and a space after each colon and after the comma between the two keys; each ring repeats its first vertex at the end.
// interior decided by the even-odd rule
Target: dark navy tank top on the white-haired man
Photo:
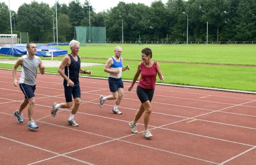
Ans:
{"type": "MultiPolygon", "coordinates": [[[[74,82],[74,86],[76,86],[79,85],[79,70],[81,65],[80,57],[76,55],[78,60],[75,61],[70,54],[68,54],[68,56],[71,60],[71,63],[69,66],[64,68],[64,73],[72,82],[74,82]]],[[[69,86],[65,79],[63,79],[63,85],[69,86]]]]}

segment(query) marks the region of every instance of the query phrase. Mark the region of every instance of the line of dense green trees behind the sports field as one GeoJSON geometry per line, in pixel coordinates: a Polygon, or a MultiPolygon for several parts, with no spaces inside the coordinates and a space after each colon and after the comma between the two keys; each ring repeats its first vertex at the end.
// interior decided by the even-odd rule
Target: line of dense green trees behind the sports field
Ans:
{"type": "MultiPolygon", "coordinates": [[[[96,13],[90,0],[68,5],[41,2],[22,4],[11,11],[13,34],[28,32],[33,42],[52,42],[58,16],[58,42],[75,38],[75,26],[106,27],[109,41],[255,41],[256,0],[161,0],[146,6],[119,2],[96,13]],[[187,24],[188,21],[188,24],[187,24]],[[123,22],[123,25],[122,25],[123,22]],[[208,38],[206,33],[208,32],[208,38]]],[[[0,2],[0,34],[11,34],[8,6],[0,2]]],[[[56,39],[56,35],[55,35],[56,39]]]]}

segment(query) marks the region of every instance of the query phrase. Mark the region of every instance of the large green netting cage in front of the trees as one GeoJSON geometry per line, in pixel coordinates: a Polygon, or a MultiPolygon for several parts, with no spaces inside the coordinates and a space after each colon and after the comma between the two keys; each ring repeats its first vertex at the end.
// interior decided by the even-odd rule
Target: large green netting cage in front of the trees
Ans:
{"type": "Polygon", "coordinates": [[[106,27],[76,26],[75,32],[81,46],[106,44],[106,27]]]}

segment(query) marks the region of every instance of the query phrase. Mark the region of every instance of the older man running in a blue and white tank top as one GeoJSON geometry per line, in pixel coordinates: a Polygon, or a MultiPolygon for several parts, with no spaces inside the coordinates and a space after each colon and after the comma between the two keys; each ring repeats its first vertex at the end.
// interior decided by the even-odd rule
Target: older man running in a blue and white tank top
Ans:
{"type": "Polygon", "coordinates": [[[118,111],[118,106],[121,103],[123,98],[123,88],[124,83],[122,81],[121,75],[122,71],[130,70],[129,66],[123,67],[123,59],[121,58],[122,48],[120,46],[116,46],[115,55],[108,59],[104,66],[104,72],[108,73],[108,85],[109,89],[112,92],[112,95],[108,96],[100,96],[100,107],[103,107],[104,102],[106,100],[116,100],[116,104],[114,105],[111,113],[122,114],[122,112],[118,111]]]}

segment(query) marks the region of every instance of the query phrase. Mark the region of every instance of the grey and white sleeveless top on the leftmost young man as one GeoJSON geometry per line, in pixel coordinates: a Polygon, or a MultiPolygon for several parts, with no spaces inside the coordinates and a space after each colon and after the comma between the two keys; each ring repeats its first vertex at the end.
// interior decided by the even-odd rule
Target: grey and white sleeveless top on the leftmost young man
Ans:
{"type": "Polygon", "coordinates": [[[23,64],[21,65],[20,83],[36,85],[37,68],[40,64],[40,58],[34,56],[29,58],[27,55],[22,56],[23,64]]]}

